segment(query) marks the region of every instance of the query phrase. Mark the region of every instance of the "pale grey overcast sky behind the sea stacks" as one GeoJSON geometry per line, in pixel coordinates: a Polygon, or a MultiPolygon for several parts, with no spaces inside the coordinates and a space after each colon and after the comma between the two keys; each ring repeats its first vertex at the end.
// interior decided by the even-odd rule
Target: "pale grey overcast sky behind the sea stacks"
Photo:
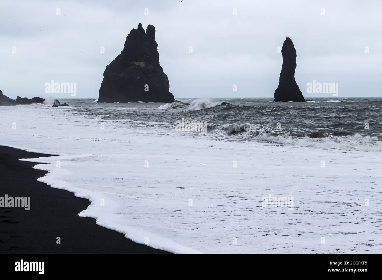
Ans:
{"type": "Polygon", "coordinates": [[[1,0],[0,90],[71,98],[47,96],[54,80],[76,83],[76,98],[97,98],[105,67],[141,22],[155,26],[175,98],[272,97],[286,36],[305,98],[331,96],[306,93],[313,80],[338,83],[338,97],[382,96],[381,10],[377,0],[1,0]]]}

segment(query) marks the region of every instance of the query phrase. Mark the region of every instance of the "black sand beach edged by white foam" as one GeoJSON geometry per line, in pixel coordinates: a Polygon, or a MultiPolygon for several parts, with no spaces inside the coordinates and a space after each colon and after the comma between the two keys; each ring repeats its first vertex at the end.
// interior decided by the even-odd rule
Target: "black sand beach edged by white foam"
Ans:
{"type": "Polygon", "coordinates": [[[89,200],[36,181],[46,172],[18,160],[46,156],[0,146],[0,196],[31,197],[29,211],[0,208],[0,253],[167,253],[79,217],[89,200]]]}

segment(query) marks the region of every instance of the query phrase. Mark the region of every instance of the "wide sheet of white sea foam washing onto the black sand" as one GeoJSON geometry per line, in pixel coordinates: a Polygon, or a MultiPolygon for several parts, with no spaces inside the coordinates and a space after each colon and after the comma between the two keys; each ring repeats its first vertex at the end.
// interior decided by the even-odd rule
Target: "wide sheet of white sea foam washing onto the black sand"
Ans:
{"type": "Polygon", "coordinates": [[[382,253],[381,152],[107,120],[102,130],[98,119],[44,106],[3,107],[0,123],[0,143],[60,155],[28,159],[47,163],[35,166],[49,171],[39,181],[88,198],[80,216],[136,242],[176,253],[382,253]],[[268,195],[293,197],[295,209],[261,207],[268,195]]]}

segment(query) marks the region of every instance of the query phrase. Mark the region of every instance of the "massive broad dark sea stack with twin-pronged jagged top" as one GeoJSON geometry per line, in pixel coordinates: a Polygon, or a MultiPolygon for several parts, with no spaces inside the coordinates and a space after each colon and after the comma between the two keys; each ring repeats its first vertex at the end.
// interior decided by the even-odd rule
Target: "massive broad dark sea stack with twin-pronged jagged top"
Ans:
{"type": "Polygon", "coordinates": [[[97,102],[173,102],[157,47],[154,26],[132,29],[121,54],[106,66],[97,102]]]}

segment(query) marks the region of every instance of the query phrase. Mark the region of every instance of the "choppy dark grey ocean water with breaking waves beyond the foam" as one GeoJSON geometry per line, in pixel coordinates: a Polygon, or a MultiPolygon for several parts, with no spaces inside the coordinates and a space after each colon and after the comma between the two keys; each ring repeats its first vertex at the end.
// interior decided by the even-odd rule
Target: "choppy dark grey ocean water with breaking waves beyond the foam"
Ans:
{"type": "MultiPolygon", "coordinates": [[[[382,150],[382,98],[179,98],[173,103],[97,103],[63,99],[74,114],[173,130],[178,120],[207,122],[207,136],[225,141],[382,150]]],[[[197,133],[196,133],[197,134],[197,133]]]]}

